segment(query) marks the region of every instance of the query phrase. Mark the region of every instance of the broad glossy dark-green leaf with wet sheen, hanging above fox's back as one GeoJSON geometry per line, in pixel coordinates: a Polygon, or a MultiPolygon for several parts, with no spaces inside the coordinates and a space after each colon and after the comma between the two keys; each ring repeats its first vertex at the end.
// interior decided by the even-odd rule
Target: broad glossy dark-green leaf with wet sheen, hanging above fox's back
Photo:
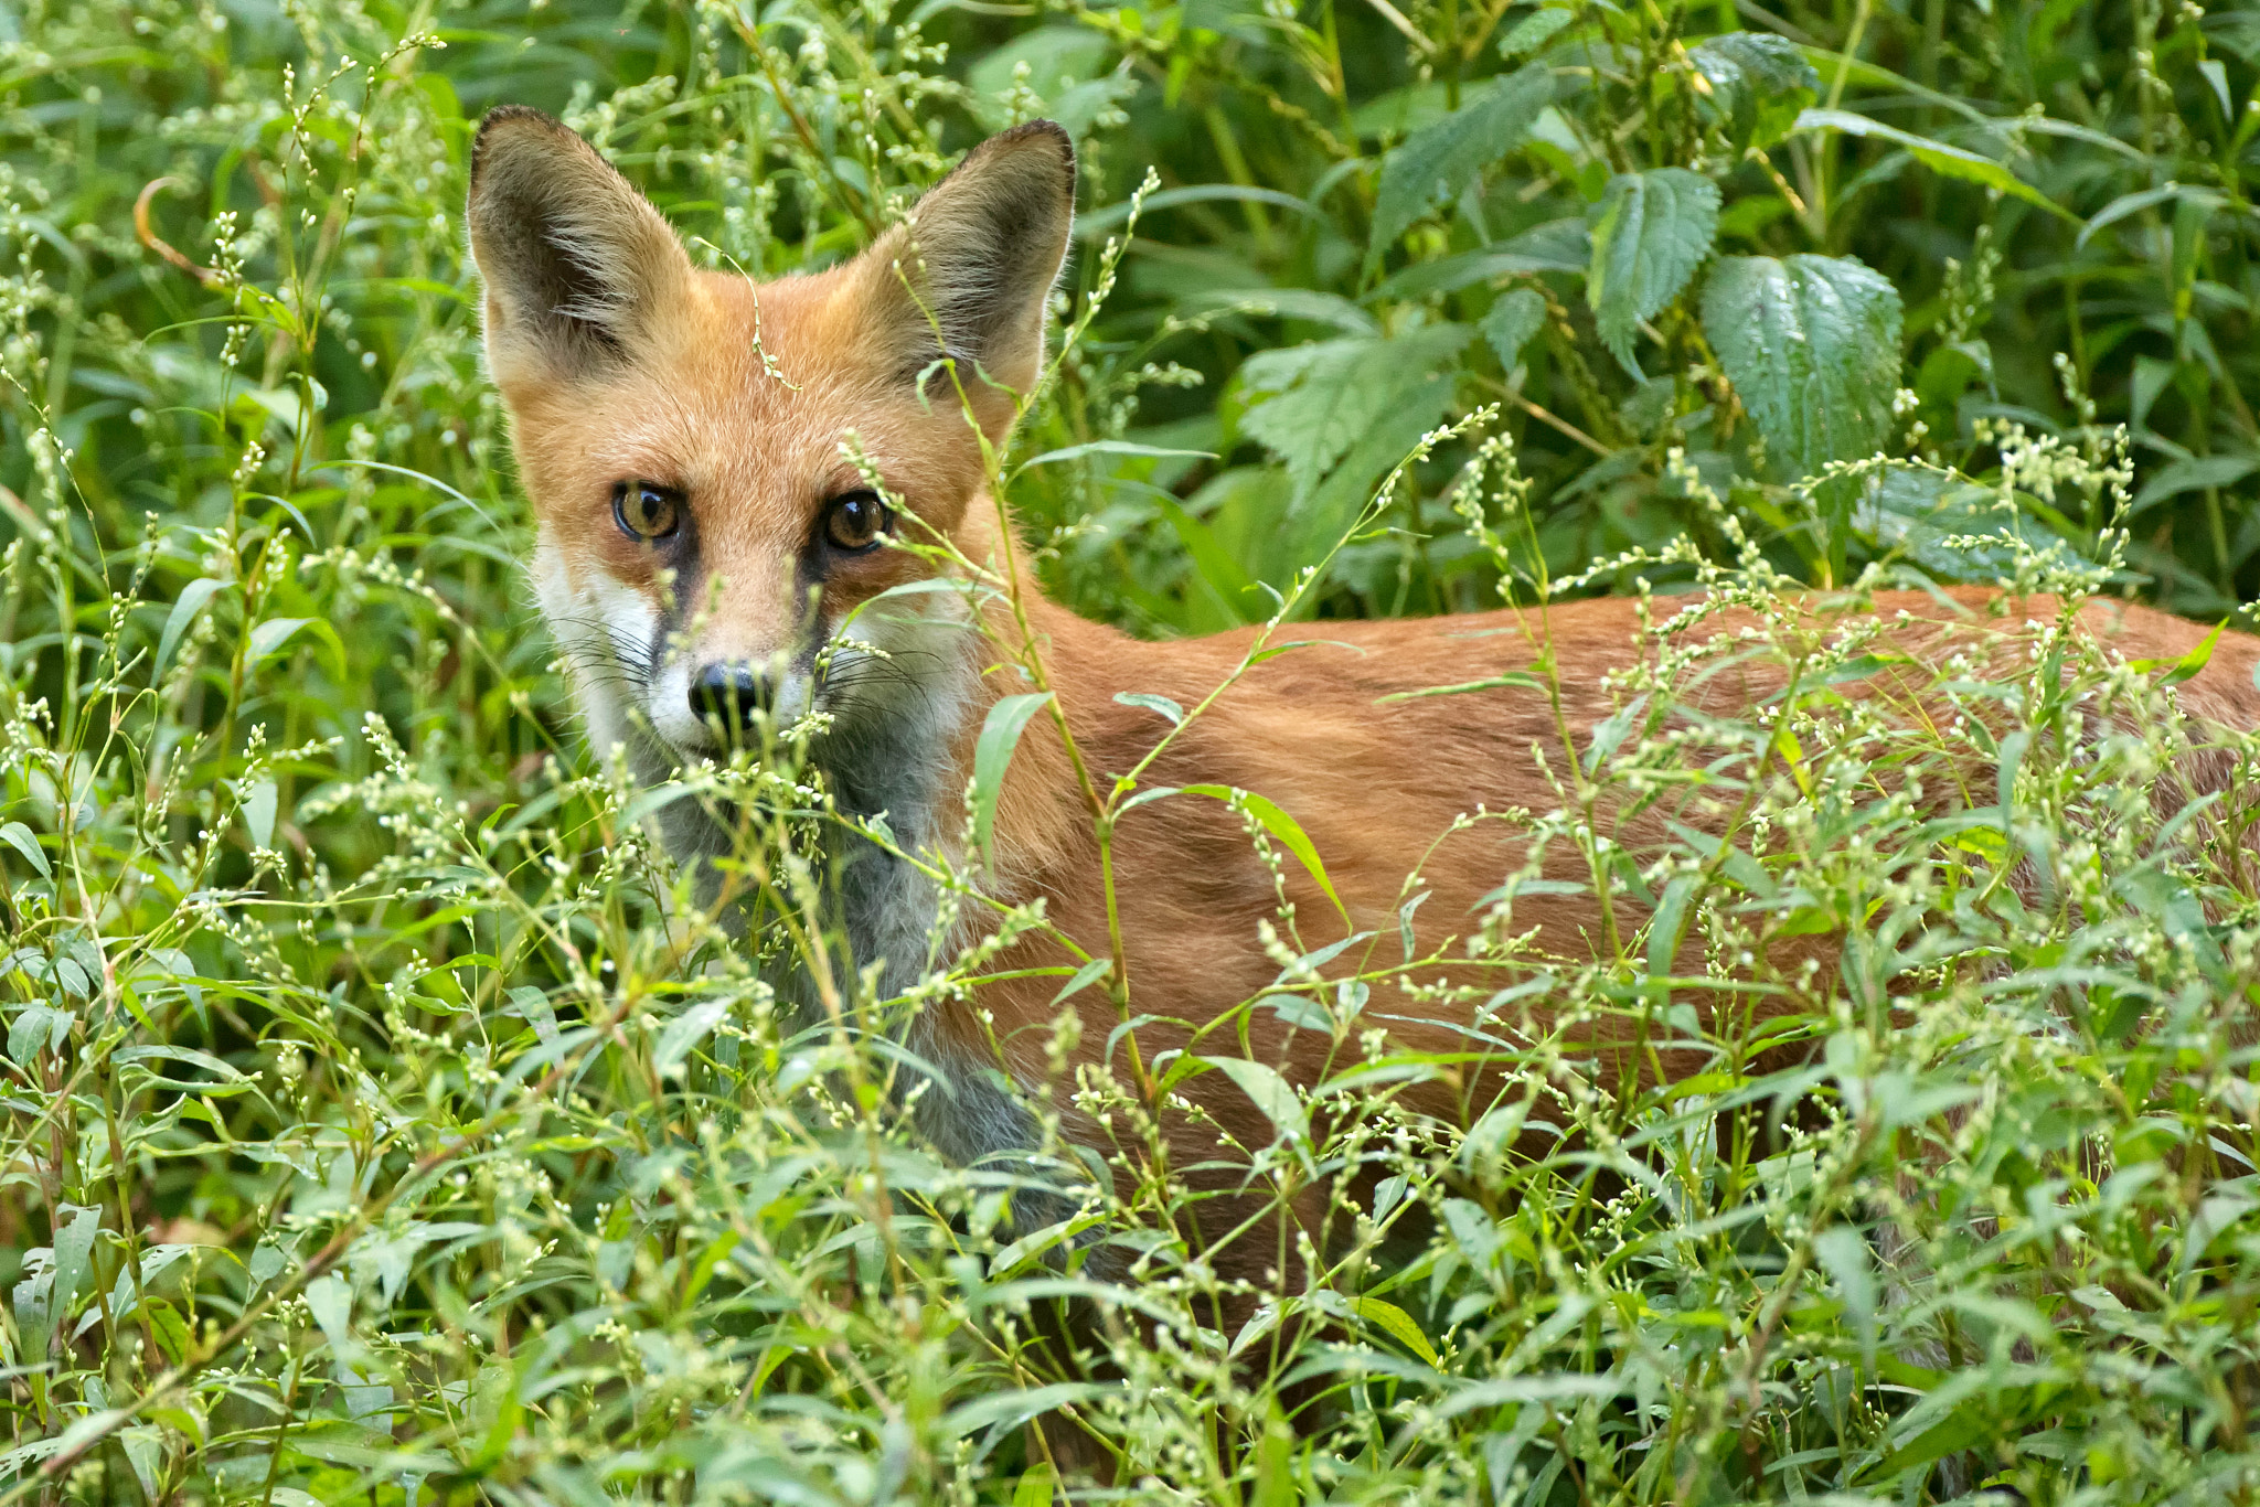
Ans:
{"type": "Polygon", "coordinates": [[[1878,273],[1851,258],[1724,258],[1704,287],[1702,328],[1776,479],[1883,450],[1898,393],[1898,291],[1878,273]]]}

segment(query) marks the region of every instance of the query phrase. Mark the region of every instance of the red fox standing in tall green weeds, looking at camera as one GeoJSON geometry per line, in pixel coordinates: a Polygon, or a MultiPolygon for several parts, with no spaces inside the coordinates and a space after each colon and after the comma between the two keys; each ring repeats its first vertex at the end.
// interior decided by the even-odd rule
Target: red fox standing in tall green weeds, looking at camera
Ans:
{"type": "MultiPolygon", "coordinates": [[[[529,108],[488,115],[468,219],[488,368],[538,517],[533,585],[590,741],[624,746],[640,777],[723,752],[757,718],[784,725],[820,712],[829,730],[811,757],[838,804],[884,813],[904,852],[960,863],[988,712],[1035,689],[1026,657],[997,644],[1033,644],[1071,741],[1046,716],[1028,723],[985,872],[1003,899],[1042,897],[1087,956],[1121,958],[1110,987],[1060,1005],[1080,1012],[1074,1062],[1107,1064],[1128,1082],[1157,1053],[1191,1046],[1245,1053],[1311,1087],[1338,1051],[1327,1030],[1248,1010],[1232,1030],[1202,1035],[1277,983],[1261,933],[1279,915],[1279,886],[1306,929],[1327,917],[1333,935],[1394,942],[1417,872],[1424,931],[1471,933],[1523,845],[1512,820],[1455,818],[1559,807],[1532,750],[1553,748],[1559,766],[1618,709],[1605,678],[1645,653],[1638,610],[1577,601],[1329,621],[1311,635],[1322,642],[1248,669],[1141,770],[1144,786],[1236,786],[1286,811],[1322,856],[1340,917],[1311,872],[1284,863],[1281,879],[1261,861],[1243,818],[1216,800],[1121,809],[1103,863],[1085,775],[1105,789],[1137,768],[1171,734],[1153,698],[1193,707],[1241,667],[1250,635],[1139,642],[1046,601],[990,495],[983,447],[1003,445],[1017,395],[1042,373],[1074,197],[1067,133],[1031,122],[976,147],[854,260],[757,285],[696,269],[660,212],[560,122],[529,108]],[[843,454],[850,434],[884,486],[843,454]],[[954,590],[897,592],[886,610],[859,615],[936,574],[931,554],[888,547],[897,538],[949,540],[1017,581],[1026,635],[997,594],[970,606],[954,590]],[[974,615],[990,615],[992,633],[974,615]],[[1559,700],[1510,673],[1544,653],[1559,700]],[[1489,689],[1399,696],[1478,680],[1489,689]],[[1146,1023],[1123,1037],[1128,1014],[1146,1023]]],[[[2023,624],[2059,612],[2048,599],[2005,603],[1973,590],[1885,592],[1869,610],[1892,624],[1896,651],[1928,664],[1973,642],[2005,662],[2023,624]]],[[[1745,621],[1713,617],[1702,633],[1745,621]]],[[[2124,603],[2090,601],[2077,621],[2127,657],[2179,660],[2206,639],[2124,603]]],[[[2260,639],[2222,635],[2179,696],[2204,718],[2251,728],[2255,664],[2260,639]]],[[[1740,714],[1779,689],[1776,671],[1745,667],[1704,696],[1740,714]]],[[[680,859],[728,847],[689,802],[671,811],[680,859]]],[[[1625,813],[1616,834],[1634,847],[1663,838],[1659,809],[1625,813]]],[[[836,883],[854,965],[879,965],[881,992],[911,985],[927,969],[936,883],[870,845],[841,854],[836,883]]],[[[1516,926],[1535,926],[1544,949],[1589,956],[1609,924],[1605,897],[1557,888],[1528,897],[1516,926]]],[[[1053,944],[1019,942],[972,1001],[918,1017],[909,1046],[938,1080],[918,1114],[945,1155],[979,1164],[1028,1148],[1019,1089],[1033,1094],[1049,1071],[1062,962],[1071,958],[1053,944]]],[[[1365,1005],[1365,1023],[1412,1051],[1467,1051],[1464,1019],[1442,1019],[1415,990],[1383,994],[1365,1005]]],[[[1173,1091],[1193,1107],[1159,1121],[1177,1166],[1216,1164],[1220,1132],[1241,1146],[1275,1136],[1234,1073],[1182,1078],[1173,1091]]],[[[1464,1094],[1469,1084],[1446,1075],[1417,1087],[1412,1103],[1464,1121],[1464,1094]]],[[[1123,1134],[1071,1112],[1064,1125],[1101,1152],[1123,1134]]],[[[1218,1227],[1243,1213],[1229,1200],[1218,1209],[1218,1227]]],[[[1229,1258],[1252,1277],[1279,1252],[1229,1258]]]]}

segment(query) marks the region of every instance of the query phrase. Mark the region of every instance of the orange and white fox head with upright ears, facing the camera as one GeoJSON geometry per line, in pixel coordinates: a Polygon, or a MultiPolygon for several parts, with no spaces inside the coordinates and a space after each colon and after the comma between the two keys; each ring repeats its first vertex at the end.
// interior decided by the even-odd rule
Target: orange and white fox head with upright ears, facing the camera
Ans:
{"type": "Polygon", "coordinates": [[[486,359],[533,502],[536,594],[599,750],[658,739],[692,759],[913,673],[820,651],[854,624],[875,635],[866,669],[888,657],[863,624],[886,612],[859,608],[931,574],[888,535],[992,554],[981,447],[1042,371],[1074,190],[1067,133],[1033,122],[854,260],[757,285],[694,267],[560,122],[486,117],[468,212],[486,359]]]}

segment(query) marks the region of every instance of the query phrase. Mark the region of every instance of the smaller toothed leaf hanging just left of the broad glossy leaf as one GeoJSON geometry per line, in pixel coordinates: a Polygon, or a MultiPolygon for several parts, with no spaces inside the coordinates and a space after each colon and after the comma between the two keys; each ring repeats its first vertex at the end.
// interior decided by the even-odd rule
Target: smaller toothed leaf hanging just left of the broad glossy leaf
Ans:
{"type": "Polygon", "coordinates": [[[1686,167],[1620,172],[1593,206],[1593,264],[1584,300],[1600,341],[1632,375],[1641,321],[1679,296],[1711,255],[1718,235],[1718,183],[1686,167]]]}

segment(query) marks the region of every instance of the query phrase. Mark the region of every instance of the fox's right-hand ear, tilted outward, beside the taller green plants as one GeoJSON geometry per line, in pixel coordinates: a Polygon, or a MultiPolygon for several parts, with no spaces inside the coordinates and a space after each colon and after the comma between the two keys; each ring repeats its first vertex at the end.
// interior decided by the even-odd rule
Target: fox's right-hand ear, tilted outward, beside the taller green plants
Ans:
{"type": "Polygon", "coordinates": [[[1074,219],[1076,147],[1058,124],[1031,120],[974,147],[863,253],[899,371],[915,380],[949,355],[983,409],[997,402],[981,398],[981,373],[1026,393],[1074,219]]]}

